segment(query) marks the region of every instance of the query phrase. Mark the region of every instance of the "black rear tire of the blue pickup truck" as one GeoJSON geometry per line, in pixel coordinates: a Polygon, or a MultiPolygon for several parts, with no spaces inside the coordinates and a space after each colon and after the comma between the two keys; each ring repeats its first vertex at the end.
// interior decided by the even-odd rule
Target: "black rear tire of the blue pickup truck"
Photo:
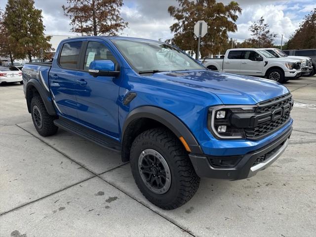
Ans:
{"type": "Polygon", "coordinates": [[[31,115],[32,115],[32,120],[33,120],[34,126],[41,136],[47,137],[47,136],[54,135],[57,132],[58,127],[54,124],[54,117],[50,116],[47,113],[45,105],[44,105],[44,103],[39,95],[34,96],[32,98],[31,115]],[[36,110],[38,110],[40,112],[41,126],[38,126],[36,119],[35,119],[35,115],[34,115],[35,111],[36,111],[36,110],[34,110],[35,107],[36,107],[36,110]]]}

